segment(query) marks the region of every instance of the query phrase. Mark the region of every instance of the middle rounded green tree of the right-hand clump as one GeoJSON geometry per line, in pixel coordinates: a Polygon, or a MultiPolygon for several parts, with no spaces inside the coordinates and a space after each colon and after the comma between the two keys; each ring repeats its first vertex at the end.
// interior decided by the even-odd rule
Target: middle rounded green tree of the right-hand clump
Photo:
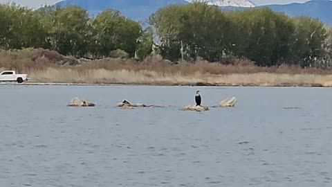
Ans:
{"type": "Polygon", "coordinates": [[[233,37],[237,38],[236,55],[247,57],[259,66],[273,66],[286,60],[293,35],[288,17],[270,8],[237,12],[233,37]]]}

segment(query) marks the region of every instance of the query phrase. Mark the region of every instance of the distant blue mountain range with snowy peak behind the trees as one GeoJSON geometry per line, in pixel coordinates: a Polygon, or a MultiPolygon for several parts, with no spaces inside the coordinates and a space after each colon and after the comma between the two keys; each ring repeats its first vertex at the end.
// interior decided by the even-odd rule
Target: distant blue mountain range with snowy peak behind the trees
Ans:
{"type": "MultiPolygon", "coordinates": [[[[56,3],[55,6],[78,5],[86,8],[91,16],[98,15],[106,8],[121,10],[122,15],[131,19],[144,21],[158,8],[170,4],[187,4],[195,0],[65,0],[56,3]]],[[[221,6],[226,10],[243,10],[250,7],[262,8],[266,6],[255,6],[248,0],[199,0],[208,4],[221,6]]],[[[332,1],[312,0],[306,3],[291,3],[286,5],[268,5],[267,7],[277,12],[284,12],[290,16],[308,16],[319,18],[325,23],[332,24],[332,1]]]]}

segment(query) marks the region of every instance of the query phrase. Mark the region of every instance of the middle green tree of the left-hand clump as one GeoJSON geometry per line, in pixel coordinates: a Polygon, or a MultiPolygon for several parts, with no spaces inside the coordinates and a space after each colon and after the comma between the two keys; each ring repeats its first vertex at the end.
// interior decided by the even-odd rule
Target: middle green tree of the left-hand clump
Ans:
{"type": "Polygon", "coordinates": [[[66,6],[39,12],[44,14],[43,21],[51,49],[75,57],[82,57],[89,52],[92,33],[86,10],[79,6],[66,6]]]}

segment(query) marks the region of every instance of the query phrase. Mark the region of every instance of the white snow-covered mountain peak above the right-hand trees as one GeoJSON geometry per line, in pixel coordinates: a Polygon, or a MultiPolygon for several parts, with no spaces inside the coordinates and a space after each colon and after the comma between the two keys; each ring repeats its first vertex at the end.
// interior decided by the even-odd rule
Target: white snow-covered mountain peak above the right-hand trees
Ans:
{"type": "Polygon", "coordinates": [[[206,2],[209,5],[214,6],[235,6],[235,7],[255,7],[255,3],[252,3],[249,0],[185,0],[188,2],[206,2]]]}

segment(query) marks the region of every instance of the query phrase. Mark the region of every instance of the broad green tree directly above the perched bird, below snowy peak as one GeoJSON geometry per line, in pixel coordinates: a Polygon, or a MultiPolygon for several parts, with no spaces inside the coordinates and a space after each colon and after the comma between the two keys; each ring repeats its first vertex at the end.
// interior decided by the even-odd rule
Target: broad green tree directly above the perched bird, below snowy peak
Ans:
{"type": "Polygon", "coordinates": [[[221,60],[230,48],[232,26],[225,14],[206,3],[161,8],[149,18],[160,38],[160,51],[170,60],[198,56],[221,60]]]}

